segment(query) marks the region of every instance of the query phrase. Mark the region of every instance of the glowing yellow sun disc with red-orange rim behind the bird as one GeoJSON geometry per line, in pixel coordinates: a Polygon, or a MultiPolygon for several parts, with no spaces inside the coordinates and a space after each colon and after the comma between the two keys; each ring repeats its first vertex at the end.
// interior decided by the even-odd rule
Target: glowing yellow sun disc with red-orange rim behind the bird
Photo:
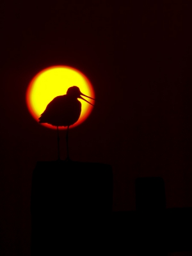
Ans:
{"type": "MultiPolygon", "coordinates": [[[[38,122],[39,116],[44,112],[47,104],[51,102],[54,97],[64,95],[70,86],[78,86],[80,91],[95,99],[92,84],[84,74],[72,67],[54,66],[45,68],[31,80],[26,93],[26,102],[29,112],[38,122]]],[[[94,104],[94,100],[87,99],[94,104]]],[[[71,125],[70,128],[81,124],[91,113],[93,106],[81,101],[81,116],[76,124],[71,125]]],[[[42,124],[45,127],[56,129],[55,126],[49,124],[42,124]]],[[[60,127],[60,129],[67,129],[67,127],[60,127]]]]}

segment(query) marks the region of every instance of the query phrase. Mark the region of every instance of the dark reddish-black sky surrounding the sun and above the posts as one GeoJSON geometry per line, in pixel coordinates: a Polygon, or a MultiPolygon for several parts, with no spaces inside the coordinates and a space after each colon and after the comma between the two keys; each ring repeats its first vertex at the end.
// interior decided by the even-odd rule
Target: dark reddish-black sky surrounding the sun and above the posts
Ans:
{"type": "Polygon", "coordinates": [[[135,209],[134,180],[146,176],[163,177],[167,207],[192,207],[191,39],[190,1],[4,1],[4,255],[29,255],[33,169],[57,157],[56,131],[33,120],[25,99],[33,76],[52,65],[77,68],[93,84],[99,102],[70,131],[70,155],[111,164],[114,211],[135,209]]]}

